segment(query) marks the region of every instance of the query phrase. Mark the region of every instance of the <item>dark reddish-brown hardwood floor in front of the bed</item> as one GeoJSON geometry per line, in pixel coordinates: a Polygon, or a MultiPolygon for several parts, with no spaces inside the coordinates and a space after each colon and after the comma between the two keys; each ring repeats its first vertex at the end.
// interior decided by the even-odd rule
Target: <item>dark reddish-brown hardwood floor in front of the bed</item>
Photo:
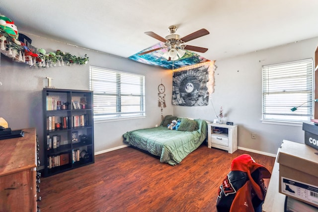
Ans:
{"type": "Polygon", "coordinates": [[[270,171],[275,162],[205,144],[175,166],[132,147],[96,155],[94,164],[41,178],[41,212],[214,212],[235,157],[250,154],[270,171]]]}

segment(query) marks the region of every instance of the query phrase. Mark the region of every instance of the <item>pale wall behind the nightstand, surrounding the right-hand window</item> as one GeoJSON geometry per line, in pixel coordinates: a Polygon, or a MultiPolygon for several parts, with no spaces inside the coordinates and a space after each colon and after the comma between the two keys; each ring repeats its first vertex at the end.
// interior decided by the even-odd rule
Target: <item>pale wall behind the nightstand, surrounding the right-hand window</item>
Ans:
{"type": "MultiPolygon", "coordinates": [[[[266,41],[264,41],[266,42],[266,41]]],[[[238,125],[238,145],[269,154],[276,154],[282,140],[304,142],[302,125],[263,124],[262,77],[263,65],[314,58],[318,38],[253,52],[235,58],[216,61],[215,92],[212,101],[216,112],[223,106],[224,121],[238,125]],[[256,139],[251,139],[251,133],[256,139]]],[[[204,107],[173,106],[177,116],[203,118],[212,121],[212,105],[204,107]]]]}

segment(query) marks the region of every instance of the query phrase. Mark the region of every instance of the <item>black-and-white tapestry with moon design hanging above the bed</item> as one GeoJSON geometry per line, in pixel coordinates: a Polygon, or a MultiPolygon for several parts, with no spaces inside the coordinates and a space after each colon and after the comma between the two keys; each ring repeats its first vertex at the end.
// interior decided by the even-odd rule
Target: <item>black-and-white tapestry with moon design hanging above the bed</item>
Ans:
{"type": "Polygon", "coordinates": [[[172,104],[206,106],[209,104],[209,65],[175,71],[172,79],[172,104]]]}

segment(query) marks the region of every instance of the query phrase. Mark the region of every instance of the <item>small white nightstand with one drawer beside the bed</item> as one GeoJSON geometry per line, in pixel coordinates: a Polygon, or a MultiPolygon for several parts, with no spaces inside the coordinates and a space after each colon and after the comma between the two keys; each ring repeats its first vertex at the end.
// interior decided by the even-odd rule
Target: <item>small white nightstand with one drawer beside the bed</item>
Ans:
{"type": "Polygon", "coordinates": [[[238,149],[238,126],[208,124],[208,147],[224,149],[231,154],[235,152],[238,149]],[[219,130],[222,133],[215,130],[219,130]]]}

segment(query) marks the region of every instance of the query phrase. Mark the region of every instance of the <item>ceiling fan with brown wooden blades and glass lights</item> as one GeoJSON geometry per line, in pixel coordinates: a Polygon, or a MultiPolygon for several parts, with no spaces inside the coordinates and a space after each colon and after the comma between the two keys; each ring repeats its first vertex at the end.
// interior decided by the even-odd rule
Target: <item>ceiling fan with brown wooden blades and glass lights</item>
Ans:
{"type": "Polygon", "coordinates": [[[145,55],[151,52],[158,51],[160,49],[167,49],[167,53],[163,54],[163,57],[166,58],[168,61],[175,61],[183,57],[185,51],[184,50],[189,50],[189,51],[194,51],[194,52],[200,52],[200,53],[205,53],[208,51],[207,48],[202,48],[202,47],[197,47],[197,46],[190,46],[186,45],[184,43],[194,40],[196,38],[205,36],[210,34],[210,32],[206,29],[200,29],[196,32],[193,32],[187,36],[180,37],[178,34],[174,34],[177,27],[176,26],[169,26],[168,27],[170,31],[170,35],[167,35],[165,38],[157,35],[154,32],[145,32],[146,35],[149,35],[150,37],[153,37],[161,42],[164,42],[164,47],[159,47],[156,49],[152,49],[146,52],[142,52],[138,55],[145,55]]]}

